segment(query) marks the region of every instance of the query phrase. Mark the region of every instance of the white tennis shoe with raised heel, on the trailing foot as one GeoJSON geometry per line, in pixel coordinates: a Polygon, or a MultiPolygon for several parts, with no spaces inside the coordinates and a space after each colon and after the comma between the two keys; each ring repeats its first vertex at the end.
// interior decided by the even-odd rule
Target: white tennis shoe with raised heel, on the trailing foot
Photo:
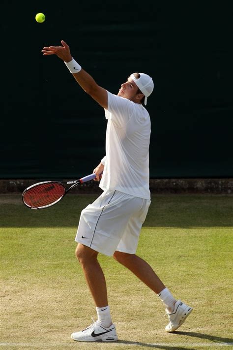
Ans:
{"type": "Polygon", "coordinates": [[[169,324],[165,327],[165,330],[170,333],[174,332],[181,326],[181,324],[184,323],[185,319],[189,316],[192,310],[193,308],[184,304],[181,300],[177,300],[175,303],[174,312],[171,314],[168,312],[166,313],[169,318],[169,324]]]}

